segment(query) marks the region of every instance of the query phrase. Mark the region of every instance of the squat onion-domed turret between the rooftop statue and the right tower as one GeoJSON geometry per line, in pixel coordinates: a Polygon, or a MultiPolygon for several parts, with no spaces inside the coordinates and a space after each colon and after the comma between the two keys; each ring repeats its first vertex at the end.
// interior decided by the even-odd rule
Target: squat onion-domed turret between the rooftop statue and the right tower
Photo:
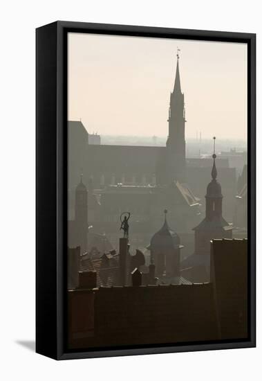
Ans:
{"type": "Polygon", "coordinates": [[[178,234],[169,228],[167,223],[167,209],[162,228],[151,238],[149,249],[151,259],[156,263],[156,276],[180,275],[180,238],[178,234]]]}

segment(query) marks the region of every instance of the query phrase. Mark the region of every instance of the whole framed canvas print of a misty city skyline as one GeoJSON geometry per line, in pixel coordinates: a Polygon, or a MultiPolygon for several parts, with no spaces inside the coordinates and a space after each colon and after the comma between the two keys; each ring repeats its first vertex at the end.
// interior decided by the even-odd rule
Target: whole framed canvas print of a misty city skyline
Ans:
{"type": "Polygon", "coordinates": [[[255,346],[255,44],[37,28],[37,353],[255,346]]]}

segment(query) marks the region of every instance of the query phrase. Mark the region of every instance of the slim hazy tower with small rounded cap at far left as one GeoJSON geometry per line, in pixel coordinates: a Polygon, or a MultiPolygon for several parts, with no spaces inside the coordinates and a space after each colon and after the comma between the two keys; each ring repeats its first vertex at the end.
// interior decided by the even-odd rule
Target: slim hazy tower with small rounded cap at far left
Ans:
{"type": "Polygon", "coordinates": [[[80,182],[75,189],[75,232],[77,242],[80,246],[81,254],[87,250],[88,233],[88,192],[83,183],[83,175],[80,176],[80,182]]]}

